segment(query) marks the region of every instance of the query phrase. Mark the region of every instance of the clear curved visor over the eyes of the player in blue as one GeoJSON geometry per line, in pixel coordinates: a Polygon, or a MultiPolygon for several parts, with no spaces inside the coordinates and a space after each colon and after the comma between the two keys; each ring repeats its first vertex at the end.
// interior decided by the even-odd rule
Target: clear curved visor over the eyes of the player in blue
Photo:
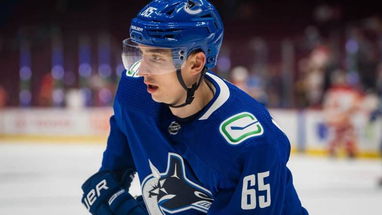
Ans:
{"type": "Polygon", "coordinates": [[[186,60],[186,47],[153,47],[123,41],[122,61],[130,73],[160,75],[181,69],[186,60]]]}

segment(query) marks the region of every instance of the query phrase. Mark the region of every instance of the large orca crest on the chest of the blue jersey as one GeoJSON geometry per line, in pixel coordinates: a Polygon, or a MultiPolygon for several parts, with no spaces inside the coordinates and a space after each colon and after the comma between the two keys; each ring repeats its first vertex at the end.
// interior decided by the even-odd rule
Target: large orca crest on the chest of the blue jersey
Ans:
{"type": "Polygon", "coordinates": [[[181,156],[169,153],[164,173],[160,173],[150,160],[149,165],[152,174],[142,182],[142,195],[151,215],[175,214],[191,209],[207,213],[213,201],[212,194],[186,177],[181,156]]]}

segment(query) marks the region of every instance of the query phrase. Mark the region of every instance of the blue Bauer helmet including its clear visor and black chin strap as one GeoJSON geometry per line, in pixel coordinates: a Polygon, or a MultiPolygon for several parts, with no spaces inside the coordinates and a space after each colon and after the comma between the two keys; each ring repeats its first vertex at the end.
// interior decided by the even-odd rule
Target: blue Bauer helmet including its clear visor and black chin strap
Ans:
{"type": "Polygon", "coordinates": [[[122,59],[128,72],[165,74],[176,71],[187,92],[184,107],[191,104],[207,69],[216,65],[223,41],[223,23],[207,0],[153,0],[131,21],[130,38],[123,41],[122,59]],[[198,82],[188,88],[181,69],[195,50],[206,55],[198,82]],[[142,63],[144,62],[144,63],[142,63]]]}

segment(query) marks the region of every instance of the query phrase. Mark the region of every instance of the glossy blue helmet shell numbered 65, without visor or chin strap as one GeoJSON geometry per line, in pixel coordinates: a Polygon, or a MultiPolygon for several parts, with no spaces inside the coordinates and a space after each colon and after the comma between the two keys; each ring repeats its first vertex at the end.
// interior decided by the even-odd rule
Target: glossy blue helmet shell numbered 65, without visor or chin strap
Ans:
{"type": "Polygon", "coordinates": [[[131,21],[130,40],[172,48],[175,66],[200,49],[206,67],[212,69],[223,41],[223,23],[207,0],[153,0],[131,21]]]}

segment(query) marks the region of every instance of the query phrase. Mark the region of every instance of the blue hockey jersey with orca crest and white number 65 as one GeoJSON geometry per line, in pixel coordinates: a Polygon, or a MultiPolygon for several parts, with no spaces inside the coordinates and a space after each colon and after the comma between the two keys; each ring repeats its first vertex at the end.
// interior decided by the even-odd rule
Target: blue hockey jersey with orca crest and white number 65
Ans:
{"type": "Polygon", "coordinates": [[[192,121],[124,71],[101,169],[136,169],[151,215],[305,215],[286,167],[290,144],[269,112],[206,74],[213,99],[192,121]]]}

